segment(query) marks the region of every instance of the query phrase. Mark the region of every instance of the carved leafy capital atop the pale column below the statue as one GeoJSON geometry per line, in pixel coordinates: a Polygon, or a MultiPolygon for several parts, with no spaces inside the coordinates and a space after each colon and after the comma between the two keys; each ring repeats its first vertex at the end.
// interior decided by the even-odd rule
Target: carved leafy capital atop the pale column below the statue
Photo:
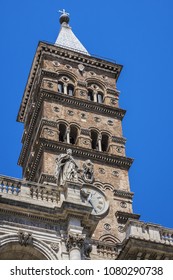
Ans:
{"type": "Polygon", "coordinates": [[[85,240],[85,235],[83,234],[72,234],[68,235],[66,240],[67,250],[70,251],[72,248],[82,248],[85,240]]]}

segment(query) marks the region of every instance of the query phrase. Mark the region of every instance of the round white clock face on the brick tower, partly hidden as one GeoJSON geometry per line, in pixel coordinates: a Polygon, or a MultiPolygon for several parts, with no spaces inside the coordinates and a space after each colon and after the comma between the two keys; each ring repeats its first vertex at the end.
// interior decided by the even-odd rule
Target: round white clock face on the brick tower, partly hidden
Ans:
{"type": "Polygon", "coordinates": [[[104,214],[108,209],[108,202],[105,195],[96,188],[82,188],[81,195],[85,201],[92,206],[93,215],[104,214]]]}

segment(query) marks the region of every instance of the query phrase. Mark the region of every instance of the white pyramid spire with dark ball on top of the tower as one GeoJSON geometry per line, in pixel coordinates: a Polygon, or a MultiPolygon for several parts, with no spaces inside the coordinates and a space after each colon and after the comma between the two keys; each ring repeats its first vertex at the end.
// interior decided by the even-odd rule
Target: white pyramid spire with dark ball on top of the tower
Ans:
{"type": "Polygon", "coordinates": [[[62,15],[60,16],[61,29],[59,35],[56,39],[55,45],[64,47],[66,49],[71,49],[73,51],[84,53],[90,55],[78,38],[74,35],[71,27],[69,26],[69,14],[65,10],[60,11],[62,15]]]}

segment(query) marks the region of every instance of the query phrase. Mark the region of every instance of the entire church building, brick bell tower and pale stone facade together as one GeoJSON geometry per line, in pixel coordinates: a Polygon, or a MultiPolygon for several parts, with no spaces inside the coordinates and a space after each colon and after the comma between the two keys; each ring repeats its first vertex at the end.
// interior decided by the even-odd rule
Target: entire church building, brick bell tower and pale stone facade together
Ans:
{"type": "Polygon", "coordinates": [[[23,178],[0,177],[0,259],[173,259],[173,230],[133,213],[116,88],[122,66],[91,56],[63,10],[39,42],[17,120],[23,178]]]}

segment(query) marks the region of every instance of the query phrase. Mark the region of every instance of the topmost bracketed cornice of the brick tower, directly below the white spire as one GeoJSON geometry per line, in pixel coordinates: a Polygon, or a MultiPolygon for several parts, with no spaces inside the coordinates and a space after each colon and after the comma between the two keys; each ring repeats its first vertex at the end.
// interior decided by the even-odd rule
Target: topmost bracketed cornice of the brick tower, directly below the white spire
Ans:
{"type": "Polygon", "coordinates": [[[39,42],[33,64],[30,70],[30,74],[28,77],[28,81],[25,87],[25,91],[22,98],[22,103],[20,105],[19,113],[17,120],[19,122],[24,122],[26,116],[26,108],[28,106],[28,101],[31,97],[31,91],[33,88],[33,84],[35,82],[36,73],[38,72],[40,60],[42,55],[51,55],[51,57],[63,58],[68,61],[73,61],[76,63],[82,62],[82,64],[98,69],[104,69],[104,71],[112,72],[115,74],[116,80],[119,77],[119,74],[122,69],[122,65],[112,63],[110,61],[106,61],[104,59],[96,58],[96,57],[88,57],[87,55],[77,53],[72,50],[64,49],[49,43],[39,42]]]}

